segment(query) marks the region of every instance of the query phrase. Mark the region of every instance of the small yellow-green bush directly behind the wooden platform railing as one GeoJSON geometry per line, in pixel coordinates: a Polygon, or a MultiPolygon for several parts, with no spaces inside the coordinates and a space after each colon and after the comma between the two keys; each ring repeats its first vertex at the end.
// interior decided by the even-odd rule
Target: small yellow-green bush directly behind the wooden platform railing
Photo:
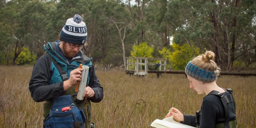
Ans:
{"type": "Polygon", "coordinates": [[[140,43],[139,45],[134,45],[131,52],[132,57],[148,57],[153,58],[154,48],[148,46],[147,42],[140,43]]]}

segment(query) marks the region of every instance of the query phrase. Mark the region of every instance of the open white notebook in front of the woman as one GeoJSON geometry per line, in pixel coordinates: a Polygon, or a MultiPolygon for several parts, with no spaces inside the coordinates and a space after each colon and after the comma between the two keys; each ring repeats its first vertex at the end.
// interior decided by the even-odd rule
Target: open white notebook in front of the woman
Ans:
{"type": "Polygon", "coordinates": [[[156,119],[150,125],[155,128],[195,128],[189,125],[185,125],[173,120],[173,116],[164,118],[162,120],[156,119]]]}

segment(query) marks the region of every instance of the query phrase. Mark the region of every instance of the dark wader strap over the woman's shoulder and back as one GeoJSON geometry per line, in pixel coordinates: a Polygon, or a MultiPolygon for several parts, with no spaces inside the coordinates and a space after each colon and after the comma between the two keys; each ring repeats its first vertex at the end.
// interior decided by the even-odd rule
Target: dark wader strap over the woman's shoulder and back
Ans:
{"type": "Polygon", "coordinates": [[[215,90],[211,91],[208,95],[216,95],[216,96],[220,97],[222,104],[224,106],[224,109],[225,109],[224,128],[230,128],[229,127],[229,119],[228,119],[228,116],[229,116],[228,104],[231,102],[234,102],[234,99],[232,98],[233,90],[232,89],[226,89],[226,90],[229,91],[229,93],[230,93],[229,95],[223,95],[221,92],[218,92],[215,90]]]}

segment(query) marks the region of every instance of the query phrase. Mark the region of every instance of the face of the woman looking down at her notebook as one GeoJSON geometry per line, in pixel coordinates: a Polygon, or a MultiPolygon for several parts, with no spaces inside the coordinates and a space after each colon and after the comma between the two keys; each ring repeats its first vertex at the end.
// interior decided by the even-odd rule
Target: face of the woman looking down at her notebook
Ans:
{"type": "Polygon", "coordinates": [[[198,81],[195,78],[190,77],[189,75],[187,75],[187,78],[189,80],[189,87],[191,89],[194,89],[197,94],[204,94],[203,82],[198,81]]]}

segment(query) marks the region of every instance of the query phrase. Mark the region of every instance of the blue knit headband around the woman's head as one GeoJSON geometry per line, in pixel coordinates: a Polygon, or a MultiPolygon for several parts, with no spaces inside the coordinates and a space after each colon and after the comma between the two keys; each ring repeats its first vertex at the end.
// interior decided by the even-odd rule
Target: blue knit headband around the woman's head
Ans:
{"type": "Polygon", "coordinates": [[[212,82],[217,80],[217,75],[214,71],[208,71],[197,67],[191,61],[187,64],[185,73],[202,82],[212,82]]]}

